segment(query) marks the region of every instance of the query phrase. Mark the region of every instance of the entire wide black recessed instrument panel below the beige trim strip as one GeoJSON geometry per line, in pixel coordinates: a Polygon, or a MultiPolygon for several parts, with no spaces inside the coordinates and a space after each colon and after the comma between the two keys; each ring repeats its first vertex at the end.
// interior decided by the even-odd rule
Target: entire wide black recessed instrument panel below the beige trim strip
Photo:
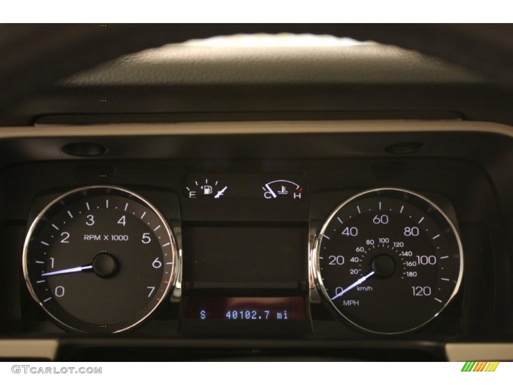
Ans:
{"type": "MultiPolygon", "coordinates": [[[[267,147],[242,156],[244,136],[165,137],[162,151],[174,139],[173,148],[201,153],[229,140],[237,157],[152,159],[135,150],[4,168],[4,335],[503,335],[508,297],[497,293],[507,293],[508,246],[497,185],[476,162],[433,144],[429,156],[376,155],[398,137],[405,134],[259,137],[283,158],[258,157],[267,147]],[[346,152],[301,158],[294,151],[307,142],[322,153],[342,143],[346,152]]],[[[422,138],[447,143],[437,133],[422,138]]],[[[466,146],[496,138],[469,133],[466,146]]],[[[127,137],[123,148],[156,140],[127,137]]]]}

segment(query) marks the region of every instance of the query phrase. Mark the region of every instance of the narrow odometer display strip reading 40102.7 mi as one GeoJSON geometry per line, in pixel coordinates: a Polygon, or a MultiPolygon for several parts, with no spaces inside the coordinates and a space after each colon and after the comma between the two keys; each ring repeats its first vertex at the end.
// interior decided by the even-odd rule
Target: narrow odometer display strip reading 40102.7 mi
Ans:
{"type": "Polygon", "coordinates": [[[192,320],[265,322],[306,319],[303,297],[186,297],[184,316],[192,320]]]}

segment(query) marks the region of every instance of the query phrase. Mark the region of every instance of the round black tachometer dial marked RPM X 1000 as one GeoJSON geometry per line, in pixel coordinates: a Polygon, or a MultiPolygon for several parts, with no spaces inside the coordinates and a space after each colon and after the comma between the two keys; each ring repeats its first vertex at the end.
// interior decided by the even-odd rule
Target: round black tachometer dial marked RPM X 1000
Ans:
{"type": "Polygon", "coordinates": [[[176,246],[162,215],[135,193],[73,190],[29,229],[24,274],[32,297],[57,322],[89,333],[130,329],[174,280],[176,246]]]}

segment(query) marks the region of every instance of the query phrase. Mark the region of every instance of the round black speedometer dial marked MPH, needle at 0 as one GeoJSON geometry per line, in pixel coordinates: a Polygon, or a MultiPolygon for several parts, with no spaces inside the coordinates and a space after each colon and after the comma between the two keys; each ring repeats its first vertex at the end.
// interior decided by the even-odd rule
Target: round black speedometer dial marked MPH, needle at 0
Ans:
{"type": "Polygon", "coordinates": [[[333,310],[375,333],[416,330],[458,291],[462,249],[442,210],[411,191],[370,190],[342,203],[315,242],[314,276],[333,310]]]}

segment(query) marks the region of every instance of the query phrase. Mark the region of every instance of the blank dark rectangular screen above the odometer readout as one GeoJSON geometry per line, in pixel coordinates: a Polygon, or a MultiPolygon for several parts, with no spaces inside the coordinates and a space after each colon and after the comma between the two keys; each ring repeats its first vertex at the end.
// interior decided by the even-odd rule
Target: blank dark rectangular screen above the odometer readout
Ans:
{"type": "Polygon", "coordinates": [[[182,237],[186,282],[248,285],[307,280],[305,226],[184,226],[182,237]]]}

